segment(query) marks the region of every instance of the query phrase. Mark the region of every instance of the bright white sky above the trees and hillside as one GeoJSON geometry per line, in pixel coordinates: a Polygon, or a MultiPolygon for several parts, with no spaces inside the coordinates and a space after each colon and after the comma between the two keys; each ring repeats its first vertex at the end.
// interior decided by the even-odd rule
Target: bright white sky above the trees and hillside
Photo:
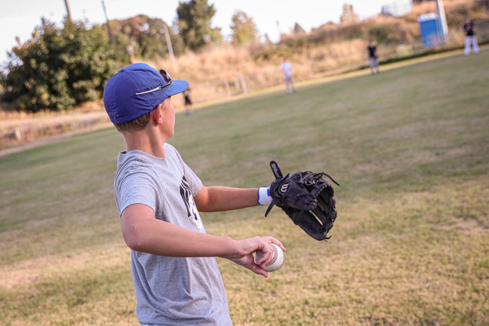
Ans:
{"type": "MultiPolygon", "coordinates": [[[[87,19],[89,23],[106,22],[102,0],[67,0],[72,20],[87,19]]],[[[181,0],[182,1],[182,0],[181,0]]],[[[402,0],[208,0],[214,4],[216,14],[212,27],[221,27],[224,36],[230,35],[229,25],[236,9],[253,19],[262,35],[272,42],[278,41],[279,30],[288,33],[297,22],[306,31],[326,22],[339,22],[343,4],[353,5],[360,19],[380,13],[383,5],[402,0]]],[[[406,0],[403,0],[404,2],[406,0]]],[[[17,43],[31,39],[41,17],[60,23],[67,15],[65,0],[6,0],[0,10],[0,64],[7,60],[6,52],[17,43]]],[[[126,19],[138,14],[160,18],[173,25],[177,17],[179,0],[104,0],[109,20],[126,19]]]]}

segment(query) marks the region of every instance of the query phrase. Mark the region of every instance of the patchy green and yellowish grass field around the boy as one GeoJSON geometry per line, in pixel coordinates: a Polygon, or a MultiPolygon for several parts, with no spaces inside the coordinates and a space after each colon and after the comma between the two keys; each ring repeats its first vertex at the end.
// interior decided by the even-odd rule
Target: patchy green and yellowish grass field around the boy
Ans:
{"type": "MultiPolygon", "coordinates": [[[[170,140],[206,185],[327,172],[316,241],[279,208],[202,213],[208,233],[273,235],[268,279],[218,259],[235,325],[489,325],[489,48],[178,114],[170,140]]],[[[138,325],[113,198],[114,129],[0,157],[0,324],[138,325]]]]}

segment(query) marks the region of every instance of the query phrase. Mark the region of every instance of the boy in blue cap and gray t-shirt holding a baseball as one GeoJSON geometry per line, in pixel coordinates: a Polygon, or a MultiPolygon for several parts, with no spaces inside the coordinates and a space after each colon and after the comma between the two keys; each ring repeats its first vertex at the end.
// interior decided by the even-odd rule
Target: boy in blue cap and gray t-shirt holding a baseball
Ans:
{"type": "Polygon", "coordinates": [[[146,64],[121,69],[108,81],[104,105],[126,142],[114,191],[141,325],[232,325],[215,257],[267,277],[271,237],[235,240],[208,235],[199,211],[268,204],[268,187],[206,187],[166,141],[173,136],[171,96],[188,83],[146,64]],[[255,263],[252,253],[265,255],[255,263]]]}

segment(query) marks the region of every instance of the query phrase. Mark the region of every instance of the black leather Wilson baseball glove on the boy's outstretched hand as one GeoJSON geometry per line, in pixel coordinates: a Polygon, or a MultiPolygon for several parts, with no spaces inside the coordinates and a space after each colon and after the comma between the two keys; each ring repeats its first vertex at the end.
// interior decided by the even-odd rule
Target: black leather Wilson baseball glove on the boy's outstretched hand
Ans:
{"type": "Polygon", "coordinates": [[[265,216],[277,205],[312,238],[330,239],[327,234],[336,219],[336,201],[333,187],[322,176],[339,184],[325,173],[298,171],[283,176],[277,162],[271,161],[270,167],[275,181],[270,185],[272,201],[265,216]]]}

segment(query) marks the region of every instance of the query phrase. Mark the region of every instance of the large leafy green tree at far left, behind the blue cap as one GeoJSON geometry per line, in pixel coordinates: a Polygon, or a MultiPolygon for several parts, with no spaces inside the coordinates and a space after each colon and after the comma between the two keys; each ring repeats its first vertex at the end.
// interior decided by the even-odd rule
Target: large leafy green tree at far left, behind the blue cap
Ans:
{"type": "Polygon", "coordinates": [[[1,99],[22,110],[70,109],[101,98],[105,82],[129,55],[111,48],[101,26],[87,29],[85,22],[64,27],[42,20],[32,39],[12,48],[10,62],[1,73],[1,99]]]}

